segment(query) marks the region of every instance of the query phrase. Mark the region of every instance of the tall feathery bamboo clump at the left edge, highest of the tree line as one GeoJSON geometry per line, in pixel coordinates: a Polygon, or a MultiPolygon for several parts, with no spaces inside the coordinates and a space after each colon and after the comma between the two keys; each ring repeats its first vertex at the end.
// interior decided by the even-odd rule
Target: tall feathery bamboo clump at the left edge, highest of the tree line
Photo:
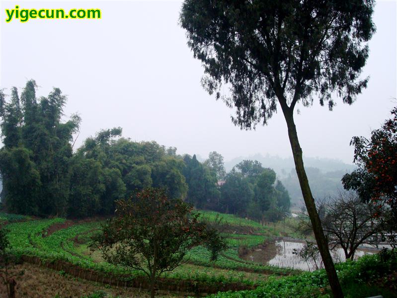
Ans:
{"type": "Polygon", "coordinates": [[[47,97],[37,99],[36,88],[36,82],[29,80],[20,97],[15,87],[11,88],[9,102],[1,95],[4,147],[0,171],[4,199],[14,212],[65,216],[73,156],[71,141],[81,119],[73,115],[62,123],[66,96],[54,88],[47,97]]]}

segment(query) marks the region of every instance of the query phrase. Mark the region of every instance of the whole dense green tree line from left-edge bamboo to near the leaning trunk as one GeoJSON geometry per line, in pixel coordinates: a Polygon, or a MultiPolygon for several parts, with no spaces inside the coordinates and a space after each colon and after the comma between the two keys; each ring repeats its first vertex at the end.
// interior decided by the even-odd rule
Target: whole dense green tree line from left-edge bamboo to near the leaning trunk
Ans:
{"type": "Polygon", "coordinates": [[[198,209],[260,218],[268,210],[288,210],[289,196],[276,174],[257,161],[244,160],[226,175],[223,156],[210,152],[176,155],[176,148],[156,142],[132,142],[120,127],[101,130],[73,151],[81,119],[62,122],[66,96],[54,88],[36,97],[29,80],[9,99],[0,91],[1,202],[8,212],[36,216],[109,215],[115,201],[148,187],[198,209]],[[219,187],[218,181],[226,179],[219,187]]]}

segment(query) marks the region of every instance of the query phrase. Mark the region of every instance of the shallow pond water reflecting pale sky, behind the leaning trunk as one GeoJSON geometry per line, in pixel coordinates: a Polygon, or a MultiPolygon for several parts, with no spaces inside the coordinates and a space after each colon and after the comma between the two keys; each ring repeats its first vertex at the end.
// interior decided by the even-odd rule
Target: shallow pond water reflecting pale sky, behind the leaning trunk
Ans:
{"type": "MultiPolygon", "coordinates": [[[[255,248],[252,252],[243,256],[243,259],[257,263],[269,264],[278,267],[289,267],[306,271],[316,270],[316,267],[323,268],[321,256],[318,256],[316,262],[305,262],[299,256],[293,254],[294,249],[301,249],[304,245],[305,242],[300,240],[276,240],[255,248]]],[[[365,254],[373,254],[375,252],[377,251],[373,249],[357,249],[354,259],[357,259],[365,254]]],[[[331,256],[334,262],[342,262],[345,260],[345,255],[343,249],[341,248],[331,251],[331,256]]]]}

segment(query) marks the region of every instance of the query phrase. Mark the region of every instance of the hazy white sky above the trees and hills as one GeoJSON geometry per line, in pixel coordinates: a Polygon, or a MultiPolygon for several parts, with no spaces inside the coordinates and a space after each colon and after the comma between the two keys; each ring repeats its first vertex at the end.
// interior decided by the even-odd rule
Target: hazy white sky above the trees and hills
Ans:
{"type": "MultiPolygon", "coordinates": [[[[178,153],[203,157],[216,150],[232,159],[254,153],[291,155],[281,110],[266,127],[240,131],[234,111],[200,85],[203,68],[178,26],[181,1],[0,0],[0,88],[38,95],[59,87],[68,95],[66,116],[82,117],[77,144],[100,129],[121,126],[136,141],[155,140],[178,153]],[[6,23],[5,8],[100,8],[102,19],[32,19],[6,23]]],[[[369,86],[352,106],[336,100],[332,112],[315,100],[295,117],[307,156],[350,163],[352,136],[369,136],[397,104],[396,1],[377,1],[377,33],[363,75],[369,86]]]]}

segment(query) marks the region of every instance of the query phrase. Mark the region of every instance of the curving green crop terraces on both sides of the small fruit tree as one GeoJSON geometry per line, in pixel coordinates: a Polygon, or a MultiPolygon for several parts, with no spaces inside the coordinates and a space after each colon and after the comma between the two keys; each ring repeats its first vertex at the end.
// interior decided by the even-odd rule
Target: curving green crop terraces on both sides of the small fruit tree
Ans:
{"type": "MultiPolygon", "coordinates": [[[[217,214],[205,212],[203,217],[215,221],[217,214]]],[[[219,215],[218,215],[219,217],[219,215]]],[[[19,219],[21,220],[21,219],[19,219]]],[[[15,255],[37,256],[43,260],[55,262],[62,260],[81,268],[111,274],[130,274],[139,276],[139,272],[125,270],[104,262],[98,252],[90,252],[87,248],[90,236],[99,227],[101,222],[66,224],[65,219],[28,220],[7,224],[12,253],[15,255]],[[47,234],[53,226],[58,230],[47,234]],[[65,228],[62,226],[65,225],[65,228]],[[69,226],[68,226],[69,225],[69,226]]],[[[229,249],[216,262],[210,261],[210,252],[202,246],[192,248],[187,256],[187,264],[164,274],[164,277],[173,279],[198,280],[204,282],[242,283],[246,285],[260,284],[269,274],[289,274],[291,270],[272,266],[263,266],[247,262],[238,257],[238,247],[252,247],[263,243],[271,237],[272,229],[260,224],[234,216],[226,216],[223,224],[228,228],[248,226],[255,230],[255,235],[224,233],[229,249]],[[260,233],[260,235],[259,235],[260,233]],[[226,273],[225,270],[228,270],[226,273]]]]}

